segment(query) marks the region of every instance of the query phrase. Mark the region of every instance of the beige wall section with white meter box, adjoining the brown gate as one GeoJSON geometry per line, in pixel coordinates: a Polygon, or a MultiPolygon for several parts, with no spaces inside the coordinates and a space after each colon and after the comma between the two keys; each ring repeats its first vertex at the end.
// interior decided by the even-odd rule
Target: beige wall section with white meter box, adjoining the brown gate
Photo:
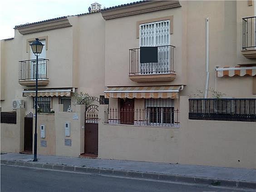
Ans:
{"type": "Polygon", "coordinates": [[[55,105],[56,155],[78,157],[84,153],[84,105],[76,105],[75,113],[63,112],[63,105],[55,105]],[[77,115],[79,119],[74,120],[77,115]],[[70,137],[65,137],[65,122],[70,122],[70,137]],[[71,146],[65,146],[71,139],[71,146]]]}

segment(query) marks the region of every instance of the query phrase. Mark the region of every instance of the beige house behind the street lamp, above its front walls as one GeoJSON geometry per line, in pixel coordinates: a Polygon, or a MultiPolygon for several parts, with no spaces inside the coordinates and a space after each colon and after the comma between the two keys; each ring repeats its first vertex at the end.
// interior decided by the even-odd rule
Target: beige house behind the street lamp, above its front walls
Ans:
{"type": "Polygon", "coordinates": [[[35,56],[29,44],[36,37],[45,44],[38,69],[41,112],[50,113],[56,103],[64,111],[74,108],[75,91],[103,95],[104,30],[99,12],[15,26],[15,38],[1,40],[1,110],[12,111],[15,99],[25,101],[26,113],[33,108],[35,56]]]}

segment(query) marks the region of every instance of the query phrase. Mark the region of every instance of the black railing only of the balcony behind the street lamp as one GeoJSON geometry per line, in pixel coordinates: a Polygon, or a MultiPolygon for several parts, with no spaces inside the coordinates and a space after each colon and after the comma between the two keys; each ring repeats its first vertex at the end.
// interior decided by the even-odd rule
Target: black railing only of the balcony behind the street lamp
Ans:
{"type": "MultiPolygon", "coordinates": [[[[47,61],[38,59],[38,79],[47,78],[47,61]]],[[[19,61],[19,80],[35,80],[36,59],[19,61]]]]}

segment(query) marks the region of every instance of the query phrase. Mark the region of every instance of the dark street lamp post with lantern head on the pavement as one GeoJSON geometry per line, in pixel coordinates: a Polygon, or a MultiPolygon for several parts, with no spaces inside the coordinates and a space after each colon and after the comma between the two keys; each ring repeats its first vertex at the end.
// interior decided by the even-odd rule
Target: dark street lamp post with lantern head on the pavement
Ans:
{"type": "Polygon", "coordinates": [[[37,161],[37,91],[38,91],[38,56],[42,53],[44,44],[42,44],[38,38],[31,44],[31,49],[36,56],[36,69],[35,69],[35,123],[34,123],[34,160],[37,161]]]}

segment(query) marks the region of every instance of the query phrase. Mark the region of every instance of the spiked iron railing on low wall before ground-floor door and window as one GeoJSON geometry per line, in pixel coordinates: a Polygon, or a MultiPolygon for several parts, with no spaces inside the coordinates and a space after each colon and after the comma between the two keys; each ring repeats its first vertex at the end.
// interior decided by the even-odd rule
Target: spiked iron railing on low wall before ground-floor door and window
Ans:
{"type": "Polygon", "coordinates": [[[179,127],[179,110],[173,107],[108,108],[106,111],[110,124],[135,126],[179,127]]]}

